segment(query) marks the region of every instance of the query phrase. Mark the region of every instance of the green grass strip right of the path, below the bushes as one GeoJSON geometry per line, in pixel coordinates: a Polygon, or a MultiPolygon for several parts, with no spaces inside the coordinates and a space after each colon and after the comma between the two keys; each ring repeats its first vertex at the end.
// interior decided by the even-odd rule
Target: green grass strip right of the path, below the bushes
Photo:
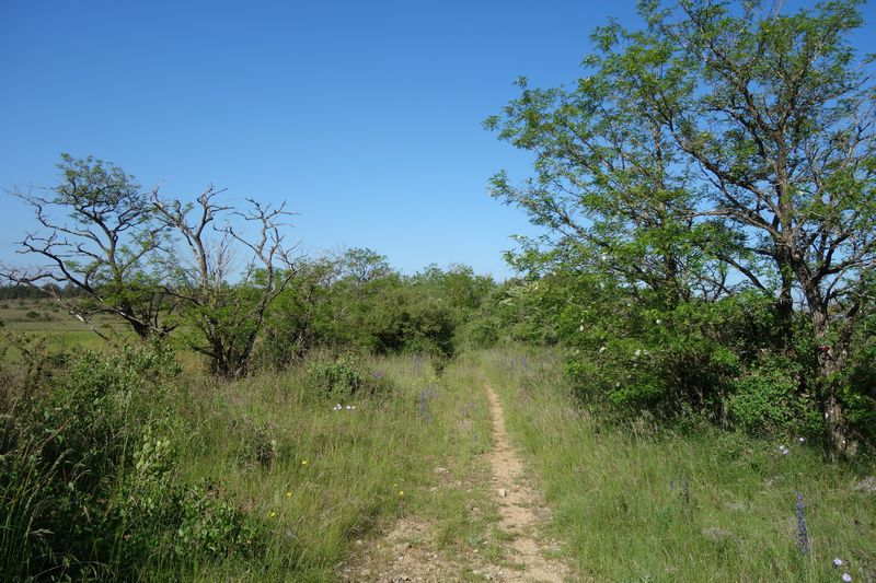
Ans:
{"type": "Polygon", "coordinates": [[[800,444],[642,421],[616,427],[572,397],[557,354],[489,351],[509,431],[554,509],[553,533],[596,581],[854,581],[876,578],[876,495],[854,488],[874,468],[826,464],[800,444]],[[797,548],[803,494],[811,550],[797,548]]]}

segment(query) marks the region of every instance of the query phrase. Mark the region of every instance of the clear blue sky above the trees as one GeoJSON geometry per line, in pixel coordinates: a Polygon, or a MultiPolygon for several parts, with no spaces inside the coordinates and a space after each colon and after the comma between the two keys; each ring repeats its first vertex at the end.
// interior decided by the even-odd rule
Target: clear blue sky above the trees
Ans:
{"type": "MultiPolygon", "coordinates": [[[[509,235],[534,230],[486,180],[528,159],[481,121],[518,75],[573,81],[595,25],[636,22],[632,1],[250,4],[0,0],[0,188],[51,186],[60,152],[93,154],[168,195],[286,199],[312,254],[504,278],[509,235]]],[[[876,51],[864,12],[857,44],[876,51]]],[[[32,223],[0,195],[0,260],[32,223]]]]}

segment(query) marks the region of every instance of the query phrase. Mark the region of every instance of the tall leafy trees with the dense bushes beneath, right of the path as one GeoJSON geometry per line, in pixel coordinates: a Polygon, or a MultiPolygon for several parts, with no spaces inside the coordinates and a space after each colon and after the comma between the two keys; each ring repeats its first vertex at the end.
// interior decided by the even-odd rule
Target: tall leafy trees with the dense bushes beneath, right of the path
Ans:
{"type": "Polygon", "coordinates": [[[595,31],[576,83],[520,79],[485,123],[535,156],[522,184],[497,173],[493,196],[546,228],[511,257],[527,276],[515,324],[541,320],[577,350],[581,389],[616,406],[820,427],[850,453],[875,403],[850,360],[876,311],[860,2],[638,11],[638,30],[595,31]]]}

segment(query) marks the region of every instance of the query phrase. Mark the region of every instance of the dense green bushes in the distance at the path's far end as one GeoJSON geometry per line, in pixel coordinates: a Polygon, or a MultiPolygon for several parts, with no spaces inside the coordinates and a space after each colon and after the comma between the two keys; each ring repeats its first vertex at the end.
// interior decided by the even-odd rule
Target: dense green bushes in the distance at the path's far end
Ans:
{"type": "Polygon", "coordinates": [[[466,342],[463,327],[483,322],[475,314],[495,288],[489,278],[462,266],[402,277],[365,250],[301,266],[266,318],[256,355],[262,366],[283,369],[316,348],[446,359],[466,342]]]}

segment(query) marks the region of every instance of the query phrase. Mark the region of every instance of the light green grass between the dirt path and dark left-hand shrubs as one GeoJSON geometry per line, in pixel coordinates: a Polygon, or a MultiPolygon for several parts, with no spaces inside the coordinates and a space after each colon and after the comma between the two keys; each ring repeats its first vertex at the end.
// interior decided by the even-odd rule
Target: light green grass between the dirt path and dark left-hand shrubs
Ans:
{"type": "Polygon", "coordinates": [[[338,399],[309,393],[306,366],[194,384],[181,403],[194,429],[185,438],[184,478],[220,479],[261,520],[268,551],[256,562],[187,565],[184,579],[331,581],[357,539],[406,514],[428,520],[446,547],[472,540],[488,547],[494,518],[468,512],[473,500],[489,508],[473,482],[489,443],[483,395],[452,368],[438,378],[420,357],[371,359],[369,366],[395,389],[342,401],[355,410],[335,411],[338,399]],[[260,462],[260,451],[270,452],[269,459],[263,454],[260,462]],[[472,489],[436,491],[437,467],[472,489]]]}

